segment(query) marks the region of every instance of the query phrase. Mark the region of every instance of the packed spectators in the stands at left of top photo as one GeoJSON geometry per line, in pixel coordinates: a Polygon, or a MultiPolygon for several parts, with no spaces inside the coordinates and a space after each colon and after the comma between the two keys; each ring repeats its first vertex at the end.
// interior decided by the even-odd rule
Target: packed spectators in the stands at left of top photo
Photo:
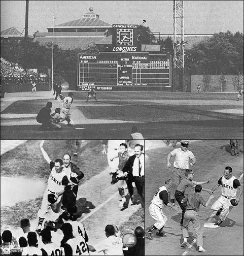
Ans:
{"type": "Polygon", "coordinates": [[[24,70],[18,63],[10,62],[1,57],[1,83],[46,83],[48,76],[45,73],[38,73],[37,70],[24,70]]]}

